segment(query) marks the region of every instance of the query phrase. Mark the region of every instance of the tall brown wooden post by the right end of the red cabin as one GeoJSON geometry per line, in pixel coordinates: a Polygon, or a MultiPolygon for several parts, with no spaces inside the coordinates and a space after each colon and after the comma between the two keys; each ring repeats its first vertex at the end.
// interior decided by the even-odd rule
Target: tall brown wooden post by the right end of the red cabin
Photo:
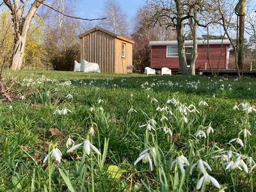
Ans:
{"type": "Polygon", "coordinates": [[[244,19],[246,12],[246,0],[239,2],[239,36],[238,36],[238,56],[237,63],[240,70],[243,70],[244,62],[244,19]]]}

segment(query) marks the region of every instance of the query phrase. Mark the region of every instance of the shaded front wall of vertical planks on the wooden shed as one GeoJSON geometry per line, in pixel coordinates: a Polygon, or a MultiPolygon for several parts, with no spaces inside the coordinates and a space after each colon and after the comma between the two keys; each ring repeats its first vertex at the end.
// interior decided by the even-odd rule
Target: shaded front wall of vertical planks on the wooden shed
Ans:
{"type": "Polygon", "coordinates": [[[93,31],[81,38],[81,60],[98,63],[101,72],[115,72],[115,38],[93,31]]]}

